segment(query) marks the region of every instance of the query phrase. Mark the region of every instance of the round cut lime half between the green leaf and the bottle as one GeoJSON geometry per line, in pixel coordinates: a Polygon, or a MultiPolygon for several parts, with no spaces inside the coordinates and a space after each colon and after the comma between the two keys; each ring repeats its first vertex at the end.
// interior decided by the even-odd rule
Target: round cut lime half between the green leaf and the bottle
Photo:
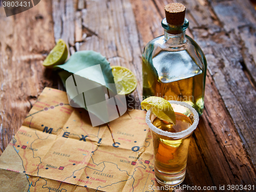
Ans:
{"type": "Polygon", "coordinates": [[[137,87],[137,80],[134,73],[125,67],[112,66],[112,73],[116,83],[117,93],[128,95],[132,93],[137,87]],[[122,91],[124,89],[124,92],[122,91]]]}

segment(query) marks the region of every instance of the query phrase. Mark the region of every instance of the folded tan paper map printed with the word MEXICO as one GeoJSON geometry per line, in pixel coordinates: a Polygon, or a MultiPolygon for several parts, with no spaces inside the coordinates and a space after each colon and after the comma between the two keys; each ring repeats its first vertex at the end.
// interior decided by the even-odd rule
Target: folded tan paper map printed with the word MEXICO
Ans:
{"type": "Polygon", "coordinates": [[[145,112],[92,127],[66,92],[45,88],[0,157],[0,191],[153,191],[153,142],[145,112]]]}

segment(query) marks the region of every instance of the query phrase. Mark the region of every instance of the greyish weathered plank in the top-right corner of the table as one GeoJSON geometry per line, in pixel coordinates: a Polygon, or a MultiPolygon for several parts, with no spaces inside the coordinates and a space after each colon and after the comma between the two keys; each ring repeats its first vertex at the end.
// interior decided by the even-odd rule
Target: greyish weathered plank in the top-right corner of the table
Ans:
{"type": "Polygon", "coordinates": [[[234,38],[241,41],[243,59],[249,75],[256,82],[256,11],[249,1],[212,1],[211,3],[216,15],[224,24],[227,32],[236,35],[234,38]]]}

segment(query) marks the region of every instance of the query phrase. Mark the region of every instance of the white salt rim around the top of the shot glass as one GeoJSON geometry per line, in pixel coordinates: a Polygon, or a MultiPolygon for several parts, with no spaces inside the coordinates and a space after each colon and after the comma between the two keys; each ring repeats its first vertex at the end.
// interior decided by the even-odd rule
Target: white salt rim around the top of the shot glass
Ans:
{"type": "Polygon", "coordinates": [[[198,125],[198,122],[199,122],[199,116],[198,116],[197,111],[191,105],[189,105],[185,102],[181,102],[181,101],[168,101],[168,102],[170,104],[177,104],[177,105],[185,106],[186,108],[188,108],[189,111],[191,112],[191,115],[194,116],[193,124],[191,126],[189,126],[188,129],[186,129],[184,131],[181,131],[181,132],[177,132],[177,133],[171,133],[171,132],[160,130],[155,125],[153,125],[151,120],[150,120],[150,115],[151,115],[151,112],[152,112],[151,109],[148,110],[147,113],[146,113],[146,124],[155,133],[157,133],[159,135],[166,136],[166,137],[181,138],[181,137],[185,137],[185,136],[191,134],[197,128],[197,125],[198,125]]]}

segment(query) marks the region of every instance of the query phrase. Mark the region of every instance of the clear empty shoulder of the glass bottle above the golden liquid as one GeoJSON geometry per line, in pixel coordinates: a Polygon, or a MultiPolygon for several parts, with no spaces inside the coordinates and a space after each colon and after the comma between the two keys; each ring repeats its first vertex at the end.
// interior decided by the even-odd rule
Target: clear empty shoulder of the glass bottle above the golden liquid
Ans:
{"type": "Polygon", "coordinates": [[[163,35],[151,40],[142,59],[158,77],[164,76],[166,82],[205,73],[207,68],[203,51],[187,35],[184,44],[175,46],[166,44],[163,35]]]}

